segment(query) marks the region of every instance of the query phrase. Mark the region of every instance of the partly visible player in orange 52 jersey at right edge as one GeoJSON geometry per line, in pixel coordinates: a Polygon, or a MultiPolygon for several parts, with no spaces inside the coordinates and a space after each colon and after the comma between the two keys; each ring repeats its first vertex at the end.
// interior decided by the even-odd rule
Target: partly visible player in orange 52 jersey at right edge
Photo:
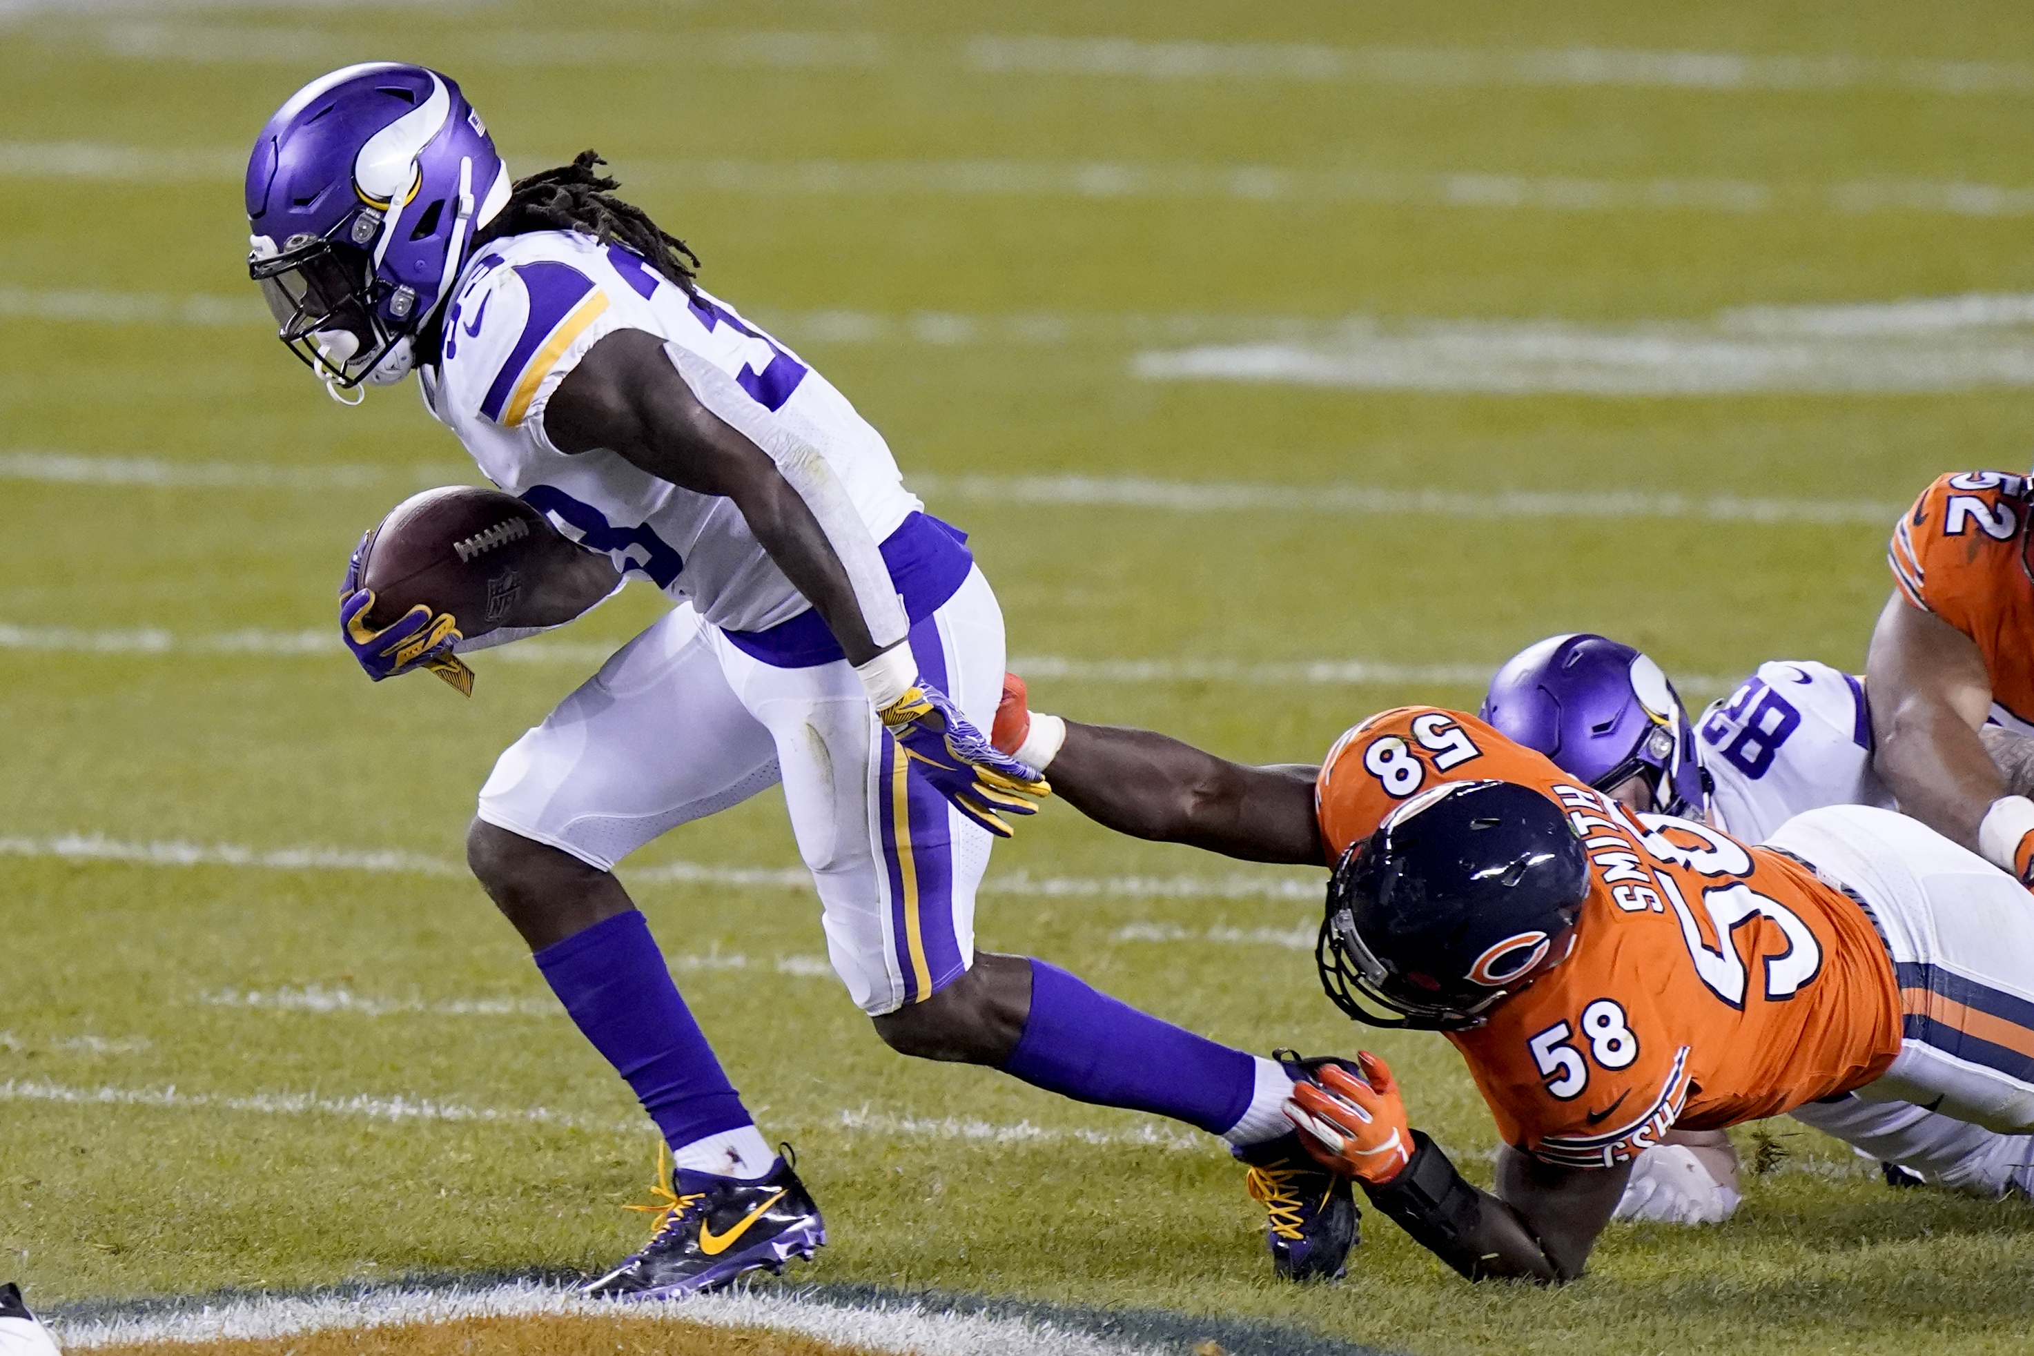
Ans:
{"type": "Polygon", "coordinates": [[[1987,734],[2034,734],[2034,492],[1961,472],[1894,527],[1865,681],[1873,764],[1900,807],[2034,884],[2034,801],[2012,795],[1987,734]],[[1991,744],[1991,752],[1987,752],[1991,744]]]}

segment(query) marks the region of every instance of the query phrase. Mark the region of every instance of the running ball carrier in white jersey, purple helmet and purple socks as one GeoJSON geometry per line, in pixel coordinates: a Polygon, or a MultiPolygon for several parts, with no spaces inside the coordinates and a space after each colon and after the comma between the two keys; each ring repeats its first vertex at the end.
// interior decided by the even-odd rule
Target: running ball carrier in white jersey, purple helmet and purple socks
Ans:
{"type": "MultiPolygon", "coordinates": [[[[677,604],[500,756],[468,838],[673,1153],[653,1240],[592,1291],[687,1295],[824,1242],[612,874],[779,781],[834,970],[891,1047],[1224,1136],[1265,1173],[1279,1273],[1338,1275],[1357,1210],[1290,1134],[1285,1063],[974,951],[1001,815],[1048,791],[978,734],[1003,675],[995,594],[883,437],[596,165],[511,183],[452,79],[372,63],[299,89],[246,179],[250,274],[336,398],[415,370],[488,480],[677,604]]],[[[370,624],[358,561],[340,620],[362,667],[454,669],[450,616],[370,624]]]]}

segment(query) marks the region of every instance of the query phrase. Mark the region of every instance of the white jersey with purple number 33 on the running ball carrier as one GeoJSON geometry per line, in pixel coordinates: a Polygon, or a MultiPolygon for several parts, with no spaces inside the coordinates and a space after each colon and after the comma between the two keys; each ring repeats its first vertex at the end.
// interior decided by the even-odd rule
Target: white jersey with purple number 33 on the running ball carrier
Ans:
{"type": "MultiPolygon", "coordinates": [[[[763,551],[732,500],[694,494],[604,449],[565,455],[543,431],[557,384],[602,337],[645,329],[732,382],[694,384],[736,429],[773,423],[814,447],[871,537],[911,512],[889,445],[848,398],[734,307],[685,293],[622,246],[576,232],[533,232],[482,246],[460,274],[439,364],[423,398],[480,470],[616,569],[690,600],[724,630],[765,630],[810,606],[763,551]],[[732,409],[728,403],[746,403],[732,409]]],[[[673,354],[673,364],[679,356],[673,354]]]]}

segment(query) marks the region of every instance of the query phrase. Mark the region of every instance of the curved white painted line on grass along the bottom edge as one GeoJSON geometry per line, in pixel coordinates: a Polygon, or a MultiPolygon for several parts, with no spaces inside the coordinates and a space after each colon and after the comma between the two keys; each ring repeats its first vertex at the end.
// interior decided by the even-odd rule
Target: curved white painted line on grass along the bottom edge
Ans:
{"type": "MultiPolygon", "coordinates": [[[[838,1346],[913,1356],[1157,1356],[1155,1348],[1096,1338],[1033,1317],[954,1313],[913,1299],[844,1307],[797,1291],[738,1289],[683,1301],[586,1299],[543,1281],[456,1289],[380,1289],[352,1295],[250,1297],[193,1311],[51,1321],[65,1350],[102,1346],[275,1340],[311,1332],[450,1323],[472,1317],[631,1317],[710,1328],[795,1332],[838,1346]]],[[[1170,1350],[1170,1348],[1168,1348],[1170,1350]]]]}

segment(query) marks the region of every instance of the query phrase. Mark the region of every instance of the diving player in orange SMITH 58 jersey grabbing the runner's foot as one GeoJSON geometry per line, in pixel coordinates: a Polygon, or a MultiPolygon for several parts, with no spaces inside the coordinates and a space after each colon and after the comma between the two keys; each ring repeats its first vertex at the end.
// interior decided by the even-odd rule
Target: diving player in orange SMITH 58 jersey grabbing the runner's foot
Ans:
{"type": "Polygon", "coordinates": [[[1464,1277],[1580,1275],[1631,1161],[1674,1126],[1855,1092],[2034,1130],[2034,909],[1906,815],[1814,809],[1751,848],[1633,815],[1438,707],[1373,716],[1318,771],[1007,724],[1100,823],[1332,864],[1322,982],[1365,1023],[1446,1033],[1505,1141],[1495,1191],[1410,1128],[1371,1055],[1363,1077],[1296,1086],[1288,1116],[1464,1277]]]}

